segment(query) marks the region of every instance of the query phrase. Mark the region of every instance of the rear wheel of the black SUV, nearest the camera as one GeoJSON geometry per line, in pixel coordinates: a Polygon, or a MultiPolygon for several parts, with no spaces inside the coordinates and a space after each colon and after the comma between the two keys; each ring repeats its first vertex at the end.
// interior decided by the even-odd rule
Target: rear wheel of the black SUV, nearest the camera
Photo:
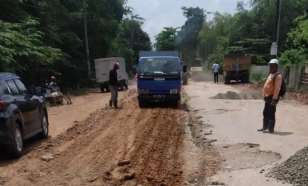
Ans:
{"type": "Polygon", "coordinates": [[[24,150],[24,137],[22,136],[22,129],[15,123],[13,132],[13,140],[8,146],[10,150],[11,158],[20,158],[22,151],[24,150]]]}

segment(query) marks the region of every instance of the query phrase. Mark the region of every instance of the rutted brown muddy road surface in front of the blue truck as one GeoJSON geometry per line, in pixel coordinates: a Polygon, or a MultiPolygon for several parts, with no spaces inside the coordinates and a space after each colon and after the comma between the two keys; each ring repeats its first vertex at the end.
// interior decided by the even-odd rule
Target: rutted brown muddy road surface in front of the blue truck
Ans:
{"type": "Polygon", "coordinates": [[[15,162],[0,185],[184,185],[185,109],[139,109],[135,90],[15,162]]]}

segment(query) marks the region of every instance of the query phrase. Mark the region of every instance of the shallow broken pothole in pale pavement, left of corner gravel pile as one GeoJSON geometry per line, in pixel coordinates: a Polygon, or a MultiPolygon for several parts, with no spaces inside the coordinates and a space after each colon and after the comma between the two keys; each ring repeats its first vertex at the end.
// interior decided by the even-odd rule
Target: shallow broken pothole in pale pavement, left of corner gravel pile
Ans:
{"type": "Polygon", "coordinates": [[[281,159],[279,153],[261,151],[259,144],[217,145],[217,151],[224,159],[222,169],[227,171],[238,169],[260,168],[281,159]]]}

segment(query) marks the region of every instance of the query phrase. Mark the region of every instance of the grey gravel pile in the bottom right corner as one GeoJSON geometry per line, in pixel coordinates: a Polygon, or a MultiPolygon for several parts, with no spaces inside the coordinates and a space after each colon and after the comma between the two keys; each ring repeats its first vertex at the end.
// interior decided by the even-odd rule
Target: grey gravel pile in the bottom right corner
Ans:
{"type": "Polygon", "coordinates": [[[291,158],[288,158],[286,162],[277,165],[268,176],[294,185],[307,186],[308,146],[295,153],[291,158]]]}

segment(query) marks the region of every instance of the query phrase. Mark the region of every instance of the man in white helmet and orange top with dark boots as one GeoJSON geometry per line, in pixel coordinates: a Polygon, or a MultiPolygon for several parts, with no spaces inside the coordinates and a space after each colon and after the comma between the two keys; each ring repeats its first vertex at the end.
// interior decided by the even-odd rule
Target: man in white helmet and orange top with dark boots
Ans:
{"type": "Polygon", "coordinates": [[[259,132],[273,133],[276,123],[276,107],[279,102],[279,92],[282,87],[282,75],[278,71],[279,62],[272,59],[268,63],[270,65],[270,75],[263,87],[263,97],[265,106],[263,110],[263,127],[259,132]]]}

